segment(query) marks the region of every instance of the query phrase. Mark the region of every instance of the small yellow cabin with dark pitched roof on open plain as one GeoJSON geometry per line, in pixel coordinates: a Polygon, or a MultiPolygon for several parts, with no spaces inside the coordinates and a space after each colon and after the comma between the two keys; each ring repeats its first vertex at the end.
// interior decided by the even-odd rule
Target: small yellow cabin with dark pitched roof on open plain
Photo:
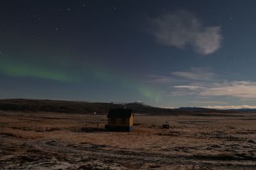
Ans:
{"type": "Polygon", "coordinates": [[[131,109],[111,109],[108,112],[108,125],[110,131],[132,131],[133,113],[131,109]]]}

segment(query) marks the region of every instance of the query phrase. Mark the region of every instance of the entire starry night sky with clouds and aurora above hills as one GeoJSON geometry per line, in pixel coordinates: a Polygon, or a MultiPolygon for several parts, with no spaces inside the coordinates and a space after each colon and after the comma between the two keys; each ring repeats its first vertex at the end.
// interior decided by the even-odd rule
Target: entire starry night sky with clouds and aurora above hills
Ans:
{"type": "Polygon", "coordinates": [[[0,2],[0,98],[256,108],[256,1],[0,2]]]}

